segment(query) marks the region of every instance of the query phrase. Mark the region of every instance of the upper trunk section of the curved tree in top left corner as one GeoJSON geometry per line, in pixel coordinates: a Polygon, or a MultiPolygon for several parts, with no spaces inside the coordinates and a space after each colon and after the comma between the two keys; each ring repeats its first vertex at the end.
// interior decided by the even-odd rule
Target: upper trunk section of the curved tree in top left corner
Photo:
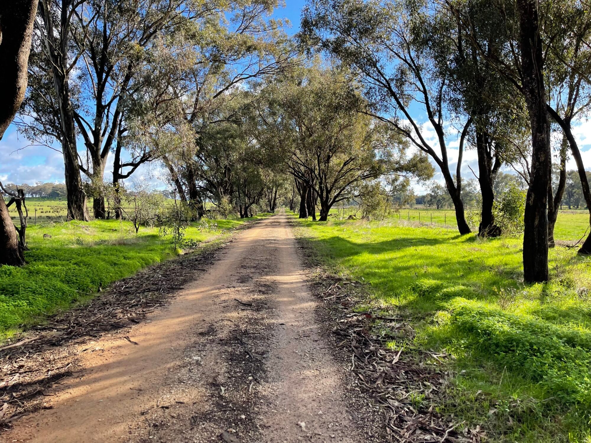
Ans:
{"type": "Polygon", "coordinates": [[[37,0],[6,0],[0,14],[0,140],[27,91],[37,0]]]}

